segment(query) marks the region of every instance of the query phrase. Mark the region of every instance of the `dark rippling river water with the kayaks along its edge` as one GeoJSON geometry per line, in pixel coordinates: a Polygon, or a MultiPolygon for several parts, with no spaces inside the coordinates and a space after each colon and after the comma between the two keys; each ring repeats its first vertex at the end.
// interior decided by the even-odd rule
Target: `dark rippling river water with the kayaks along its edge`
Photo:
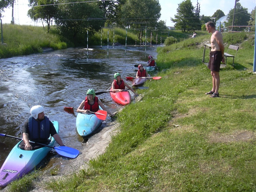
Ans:
{"type": "MultiPolygon", "coordinates": [[[[94,46],[88,50],[88,57],[87,49],[80,47],[1,59],[0,133],[21,137],[30,108],[42,105],[45,115],[59,122],[63,143],[81,148],[87,140],[76,132],[76,112],[70,114],[63,108],[77,108],[88,89],[109,91],[116,72],[121,73],[122,78],[136,76],[134,65],[146,64],[148,55],[156,59],[156,46],[147,46],[146,58],[145,46],[127,46],[126,51],[125,46],[94,46]]],[[[131,95],[133,97],[133,93],[131,95]]],[[[109,93],[98,97],[112,112],[122,108],[112,101],[109,93]]],[[[107,116],[100,129],[111,121],[107,116]]],[[[0,166],[17,142],[0,137],[0,166]]],[[[54,156],[58,154],[52,150],[47,157],[54,156]]]]}

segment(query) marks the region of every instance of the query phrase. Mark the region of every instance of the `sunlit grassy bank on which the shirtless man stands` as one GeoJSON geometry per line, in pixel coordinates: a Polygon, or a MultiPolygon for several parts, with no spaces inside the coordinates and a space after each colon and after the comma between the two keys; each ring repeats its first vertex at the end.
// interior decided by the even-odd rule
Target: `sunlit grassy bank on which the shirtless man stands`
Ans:
{"type": "Polygon", "coordinates": [[[228,65],[220,71],[220,98],[209,98],[204,93],[212,82],[210,71],[201,63],[203,47],[188,47],[209,39],[209,35],[198,36],[158,50],[157,63],[167,70],[157,74],[160,80],[145,85],[150,89],[138,91],[144,95],[140,102],[118,114],[120,132],[106,153],[92,160],[88,170],[53,180],[48,188],[255,191],[252,40],[240,45],[234,68],[228,65]]]}

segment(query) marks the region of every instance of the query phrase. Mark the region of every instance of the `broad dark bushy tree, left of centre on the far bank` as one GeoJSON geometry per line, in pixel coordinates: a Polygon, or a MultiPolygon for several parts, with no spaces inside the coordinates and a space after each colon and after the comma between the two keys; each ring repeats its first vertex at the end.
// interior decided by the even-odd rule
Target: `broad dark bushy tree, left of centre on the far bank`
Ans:
{"type": "MultiPolygon", "coordinates": [[[[60,2],[60,1],[59,1],[60,2]]],[[[68,37],[76,38],[86,31],[92,35],[104,27],[104,12],[100,10],[98,2],[74,3],[73,0],[62,0],[55,15],[55,23],[60,32],[68,37]]],[[[79,1],[78,1],[79,2],[79,1]]]]}

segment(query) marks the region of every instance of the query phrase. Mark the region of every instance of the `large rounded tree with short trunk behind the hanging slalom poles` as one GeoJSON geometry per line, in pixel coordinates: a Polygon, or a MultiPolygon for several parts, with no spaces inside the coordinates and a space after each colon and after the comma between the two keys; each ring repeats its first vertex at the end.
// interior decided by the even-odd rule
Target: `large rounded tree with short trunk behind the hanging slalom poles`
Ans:
{"type": "Polygon", "coordinates": [[[161,16],[161,6],[158,0],[127,0],[122,7],[122,25],[138,28],[138,36],[145,26],[155,28],[161,16]],[[132,19],[131,19],[132,18],[132,19]]]}

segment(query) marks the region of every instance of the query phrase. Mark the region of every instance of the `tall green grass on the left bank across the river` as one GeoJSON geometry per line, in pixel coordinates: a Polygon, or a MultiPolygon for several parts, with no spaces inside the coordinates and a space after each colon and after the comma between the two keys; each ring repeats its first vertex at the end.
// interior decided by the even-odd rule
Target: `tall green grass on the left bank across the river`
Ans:
{"type": "Polygon", "coordinates": [[[27,25],[3,25],[3,43],[0,44],[0,59],[42,52],[44,47],[64,49],[73,46],[52,28],[51,33],[43,27],[27,25]]]}

